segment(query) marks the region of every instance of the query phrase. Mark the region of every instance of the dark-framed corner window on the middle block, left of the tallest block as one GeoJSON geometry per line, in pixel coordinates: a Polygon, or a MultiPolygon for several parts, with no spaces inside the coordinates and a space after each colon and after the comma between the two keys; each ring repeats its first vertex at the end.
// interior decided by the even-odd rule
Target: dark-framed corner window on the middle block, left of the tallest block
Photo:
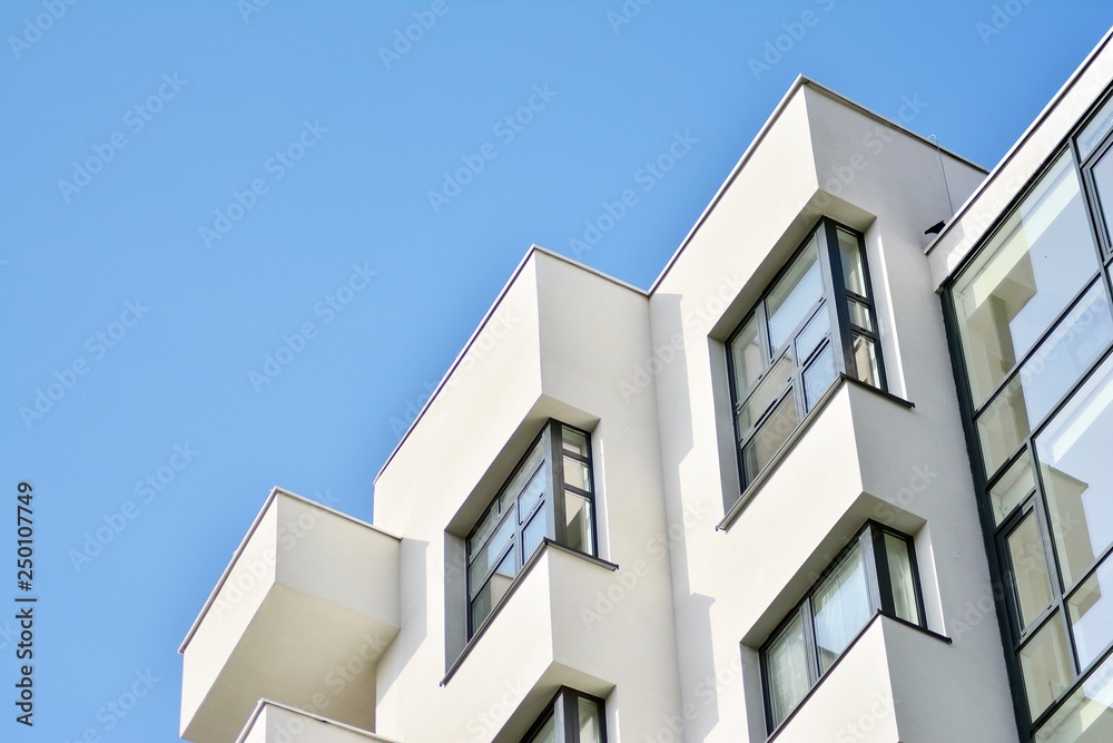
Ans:
{"type": "Polygon", "coordinates": [[[555,420],[545,423],[467,537],[469,637],[545,539],[595,554],[591,437],[555,420]]]}

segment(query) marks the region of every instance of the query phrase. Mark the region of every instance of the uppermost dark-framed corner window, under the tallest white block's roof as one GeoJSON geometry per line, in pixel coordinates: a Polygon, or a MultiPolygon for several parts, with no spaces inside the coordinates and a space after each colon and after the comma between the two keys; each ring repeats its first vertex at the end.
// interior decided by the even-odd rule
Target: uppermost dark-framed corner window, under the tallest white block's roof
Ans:
{"type": "Polygon", "coordinates": [[[840,373],[885,387],[861,236],[820,222],[727,346],[745,490],[840,373]]]}

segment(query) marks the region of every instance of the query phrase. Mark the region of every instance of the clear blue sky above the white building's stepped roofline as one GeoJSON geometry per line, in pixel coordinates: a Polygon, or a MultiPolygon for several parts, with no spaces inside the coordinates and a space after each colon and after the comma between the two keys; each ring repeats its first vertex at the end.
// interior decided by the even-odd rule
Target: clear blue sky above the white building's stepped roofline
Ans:
{"type": "Polygon", "coordinates": [[[648,287],[800,72],[915,101],[912,129],[993,166],[1111,23],[1107,0],[4,2],[0,739],[177,740],[177,647],[272,486],[370,519],[531,243],[648,287]]]}

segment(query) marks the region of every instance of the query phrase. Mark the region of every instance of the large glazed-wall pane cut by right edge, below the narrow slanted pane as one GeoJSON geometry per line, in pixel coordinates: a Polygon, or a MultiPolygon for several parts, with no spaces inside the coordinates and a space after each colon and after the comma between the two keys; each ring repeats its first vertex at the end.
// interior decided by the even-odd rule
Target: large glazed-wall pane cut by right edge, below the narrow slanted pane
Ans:
{"type": "Polygon", "coordinates": [[[1113,542],[1113,359],[1036,439],[1052,536],[1067,587],[1113,542]]]}

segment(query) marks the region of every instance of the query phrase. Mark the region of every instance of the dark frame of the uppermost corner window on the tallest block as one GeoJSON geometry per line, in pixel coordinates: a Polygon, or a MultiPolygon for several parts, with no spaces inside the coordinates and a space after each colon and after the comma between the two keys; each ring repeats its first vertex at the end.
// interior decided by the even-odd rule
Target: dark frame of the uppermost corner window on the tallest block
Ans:
{"type": "MultiPolygon", "coordinates": [[[[876,294],[874,293],[873,281],[869,275],[869,263],[866,260],[864,235],[851,227],[835,222],[834,219],[821,217],[808,232],[807,237],[805,237],[801,244],[792,252],[791,256],[789,256],[789,258],[785,262],[785,265],[777,272],[777,275],[774,276],[772,281],[769,282],[765,291],[761,293],[761,296],[754,303],[754,306],[746,313],[742,321],[738,323],[735,330],[731,331],[726,341],[727,378],[729,380],[731,402],[731,427],[735,433],[735,458],[736,466],[738,467],[739,482],[741,483],[739,497],[746,492],[761,471],[764,471],[764,468],[754,472],[747,471],[743,453],[745,449],[747,444],[757,439],[758,434],[764,430],[764,427],[780,409],[781,403],[784,403],[790,394],[794,398],[796,405],[797,422],[794,427],[795,429],[800,427],[808,412],[815,409],[816,403],[824,398],[824,391],[834,387],[841,377],[848,377],[859,381],[863,379],[863,373],[860,373],[861,370],[857,369],[857,361],[854,354],[854,342],[857,336],[861,336],[873,344],[876,353],[878,374],[876,389],[881,392],[888,391],[888,380],[885,373],[885,360],[881,351],[876,304],[876,294]],[[838,241],[840,231],[854,237],[857,242],[857,258],[861,266],[866,295],[853,292],[846,286],[843,258],[838,241]],[[823,297],[814,303],[808,311],[802,314],[802,320],[800,320],[792,329],[791,333],[788,334],[788,340],[780,348],[774,349],[771,348],[770,341],[767,301],[774,290],[778,289],[780,281],[788,275],[788,272],[792,268],[797,258],[809,250],[812,239],[817,241],[816,251],[818,253],[819,272],[823,283],[823,297]],[[857,302],[865,307],[868,322],[873,325],[871,330],[854,324],[850,321],[850,301],[857,302]],[[796,349],[797,339],[820,312],[827,312],[828,314],[830,327],[827,331],[827,335],[821,342],[810,350],[806,358],[798,359],[796,349]],[[759,348],[762,354],[762,369],[757,379],[751,382],[750,389],[745,391],[745,397],[740,397],[739,390],[737,389],[737,370],[735,369],[732,344],[751,320],[756,320],[758,323],[758,338],[759,348]],[[831,359],[834,364],[831,382],[827,388],[825,388],[824,391],[817,391],[818,393],[814,395],[814,400],[809,400],[808,390],[806,389],[804,380],[805,373],[811,369],[812,364],[816,363],[828,349],[831,349],[831,359]],[[841,352],[838,352],[839,350],[841,352]],[[766,382],[769,372],[785,359],[787,359],[791,364],[791,373],[788,382],[777,391],[776,395],[770,399],[770,402],[765,407],[765,409],[755,416],[750,427],[746,431],[740,431],[738,427],[740,412],[755,398],[756,394],[762,391],[767,392],[767,390],[762,389],[762,384],[766,382]]],[[[776,456],[771,457],[770,461],[775,459],[776,456]]]]}

